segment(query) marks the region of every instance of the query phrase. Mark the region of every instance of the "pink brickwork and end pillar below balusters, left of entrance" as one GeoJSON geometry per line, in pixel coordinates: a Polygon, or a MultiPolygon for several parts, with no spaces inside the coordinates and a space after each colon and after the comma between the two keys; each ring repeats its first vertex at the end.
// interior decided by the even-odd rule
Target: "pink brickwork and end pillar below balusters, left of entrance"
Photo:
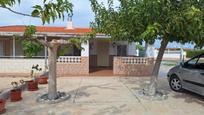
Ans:
{"type": "Polygon", "coordinates": [[[88,75],[89,58],[81,57],[81,63],[57,63],[57,75],[88,75]]]}

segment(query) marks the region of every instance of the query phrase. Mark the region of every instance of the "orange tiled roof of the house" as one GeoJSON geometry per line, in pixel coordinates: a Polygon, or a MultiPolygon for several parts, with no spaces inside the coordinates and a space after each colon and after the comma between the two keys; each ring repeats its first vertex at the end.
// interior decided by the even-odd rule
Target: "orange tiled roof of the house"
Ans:
{"type": "MultiPolygon", "coordinates": [[[[1,26],[0,32],[24,32],[25,26],[1,26]]],[[[91,28],[74,28],[66,29],[66,27],[36,26],[37,32],[45,33],[88,33],[91,28]]]]}

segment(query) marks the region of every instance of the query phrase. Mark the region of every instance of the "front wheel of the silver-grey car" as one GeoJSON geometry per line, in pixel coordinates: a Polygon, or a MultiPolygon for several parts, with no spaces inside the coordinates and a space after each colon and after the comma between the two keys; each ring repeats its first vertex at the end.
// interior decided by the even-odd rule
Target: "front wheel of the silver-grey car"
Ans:
{"type": "Polygon", "coordinates": [[[181,80],[176,75],[171,76],[169,85],[171,89],[176,92],[180,92],[182,90],[181,80]]]}

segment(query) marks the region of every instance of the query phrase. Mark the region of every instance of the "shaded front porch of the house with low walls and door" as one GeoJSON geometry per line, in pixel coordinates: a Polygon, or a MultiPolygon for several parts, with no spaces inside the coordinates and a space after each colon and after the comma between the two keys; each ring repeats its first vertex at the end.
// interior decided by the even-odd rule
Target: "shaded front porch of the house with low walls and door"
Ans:
{"type": "MultiPolygon", "coordinates": [[[[44,39],[47,39],[46,37],[44,39]]],[[[15,39],[1,39],[0,76],[29,75],[32,65],[47,68],[47,49],[38,56],[26,58],[22,46],[15,39]]],[[[60,49],[62,49],[62,46],[60,49]]],[[[72,47],[57,59],[58,76],[148,76],[153,59],[136,57],[135,43],[97,38],[81,44],[83,50],[72,47]]],[[[59,50],[60,50],[59,49],[59,50]]]]}

